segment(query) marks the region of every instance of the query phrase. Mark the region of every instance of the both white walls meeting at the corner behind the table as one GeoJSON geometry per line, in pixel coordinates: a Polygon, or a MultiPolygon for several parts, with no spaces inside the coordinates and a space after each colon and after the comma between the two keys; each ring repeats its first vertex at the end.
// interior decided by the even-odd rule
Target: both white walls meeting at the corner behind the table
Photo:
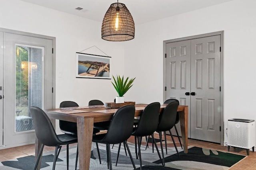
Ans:
{"type": "Polygon", "coordinates": [[[0,0],[0,27],[56,37],[56,106],[114,99],[110,80],[75,78],[75,53],[96,45],[112,57],[112,74],[136,77],[126,101],[163,102],[163,41],[224,30],[224,123],[256,119],[256,1],[224,4],[136,25],[135,39],[108,42],[101,23],[19,0],[0,0]],[[125,46],[124,46],[125,45],[125,46]],[[62,74],[62,77],[58,77],[62,74]]]}

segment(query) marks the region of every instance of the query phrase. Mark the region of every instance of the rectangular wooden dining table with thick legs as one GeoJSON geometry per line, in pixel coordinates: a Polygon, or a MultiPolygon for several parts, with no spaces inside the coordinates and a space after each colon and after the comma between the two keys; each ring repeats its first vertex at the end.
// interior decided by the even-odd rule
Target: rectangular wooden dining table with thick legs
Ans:
{"type": "MultiPolygon", "coordinates": [[[[143,109],[147,104],[135,105],[135,117],[140,116],[143,109]]],[[[160,112],[166,107],[161,105],[160,112]]],[[[89,170],[90,167],[90,154],[92,147],[92,132],[93,123],[111,120],[117,109],[110,109],[99,106],[85,106],[85,107],[66,107],[58,109],[46,109],[44,110],[49,118],[59,119],[64,121],[76,122],[78,131],[78,156],[79,156],[79,169],[89,170]]],[[[177,111],[180,117],[180,127],[182,133],[182,141],[184,145],[184,153],[188,152],[188,106],[178,106],[177,111]]],[[[39,156],[39,150],[41,147],[40,141],[35,141],[35,155],[39,156]]],[[[41,162],[41,160],[40,160],[41,162]]],[[[39,164],[40,164],[39,162],[39,164]]],[[[40,169],[40,166],[37,168],[40,169]]]]}

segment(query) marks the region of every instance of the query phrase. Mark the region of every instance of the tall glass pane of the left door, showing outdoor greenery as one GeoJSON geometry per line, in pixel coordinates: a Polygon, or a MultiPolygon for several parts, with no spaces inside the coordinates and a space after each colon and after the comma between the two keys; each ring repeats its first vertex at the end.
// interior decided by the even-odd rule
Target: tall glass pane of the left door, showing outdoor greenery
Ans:
{"type": "Polygon", "coordinates": [[[15,131],[34,130],[29,107],[43,105],[44,47],[16,44],[15,131]]]}

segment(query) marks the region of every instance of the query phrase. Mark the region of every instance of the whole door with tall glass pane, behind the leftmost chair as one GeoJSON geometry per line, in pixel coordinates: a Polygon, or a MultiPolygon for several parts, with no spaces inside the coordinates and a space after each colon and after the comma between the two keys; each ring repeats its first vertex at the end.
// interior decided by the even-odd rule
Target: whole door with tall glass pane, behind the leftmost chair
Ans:
{"type": "Polygon", "coordinates": [[[4,33],[3,56],[3,146],[34,143],[29,108],[53,104],[52,40],[4,33]]]}

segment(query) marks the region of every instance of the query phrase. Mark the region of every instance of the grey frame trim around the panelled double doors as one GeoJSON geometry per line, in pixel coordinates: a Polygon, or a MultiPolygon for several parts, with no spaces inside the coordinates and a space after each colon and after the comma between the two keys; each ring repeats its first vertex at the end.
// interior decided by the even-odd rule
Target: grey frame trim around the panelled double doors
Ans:
{"type": "Polygon", "coordinates": [[[165,86],[166,86],[166,44],[167,43],[174,43],[178,41],[186,41],[186,40],[191,40],[191,39],[198,39],[198,38],[204,38],[204,37],[211,37],[215,35],[220,35],[220,86],[221,86],[221,91],[220,91],[220,126],[221,126],[221,131],[220,131],[220,145],[224,145],[224,121],[223,121],[223,110],[224,110],[224,105],[223,105],[223,91],[224,91],[224,83],[223,83],[223,58],[224,58],[224,31],[217,31],[217,32],[212,32],[212,33],[205,33],[205,34],[200,34],[200,35],[193,35],[189,37],[182,37],[182,38],[176,38],[176,39],[170,39],[170,40],[165,40],[163,41],[164,45],[164,51],[163,51],[163,102],[166,99],[166,91],[165,91],[165,86]]]}

